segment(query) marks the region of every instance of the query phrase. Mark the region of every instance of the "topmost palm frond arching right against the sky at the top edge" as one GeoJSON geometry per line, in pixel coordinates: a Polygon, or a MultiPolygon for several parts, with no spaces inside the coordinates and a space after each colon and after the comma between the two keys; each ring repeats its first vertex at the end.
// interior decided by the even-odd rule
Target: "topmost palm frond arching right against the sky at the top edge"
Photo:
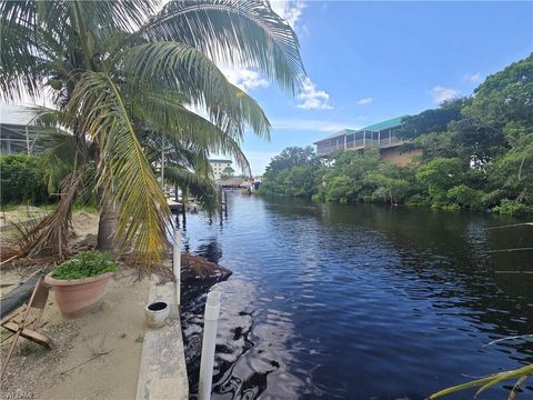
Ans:
{"type": "Polygon", "coordinates": [[[258,68],[292,93],[305,76],[294,31],[262,0],[170,1],[140,34],[188,43],[215,61],[258,68]]]}

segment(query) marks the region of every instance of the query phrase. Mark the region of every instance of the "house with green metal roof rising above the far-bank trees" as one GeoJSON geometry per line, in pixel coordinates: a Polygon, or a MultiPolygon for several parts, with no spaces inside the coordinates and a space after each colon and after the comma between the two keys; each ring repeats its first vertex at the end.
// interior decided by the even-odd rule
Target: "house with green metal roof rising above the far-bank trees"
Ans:
{"type": "Polygon", "coordinates": [[[396,132],[402,127],[403,118],[405,116],[373,123],[361,129],[343,129],[330,134],[313,143],[316,144],[316,156],[328,158],[336,151],[380,149],[384,161],[406,164],[413,160],[414,156],[420,154],[420,150],[403,152],[398,150],[404,143],[396,136],[396,132]]]}

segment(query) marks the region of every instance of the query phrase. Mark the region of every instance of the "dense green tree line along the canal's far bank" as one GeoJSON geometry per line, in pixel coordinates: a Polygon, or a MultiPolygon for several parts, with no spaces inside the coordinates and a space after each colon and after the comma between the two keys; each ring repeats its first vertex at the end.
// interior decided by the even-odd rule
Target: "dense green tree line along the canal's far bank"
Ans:
{"type": "Polygon", "coordinates": [[[382,162],[378,149],[323,160],[312,147],[291,147],[271,160],[259,193],[533,212],[533,54],[487,77],[472,96],[402,122],[400,150],[422,150],[409,166],[382,162]]]}

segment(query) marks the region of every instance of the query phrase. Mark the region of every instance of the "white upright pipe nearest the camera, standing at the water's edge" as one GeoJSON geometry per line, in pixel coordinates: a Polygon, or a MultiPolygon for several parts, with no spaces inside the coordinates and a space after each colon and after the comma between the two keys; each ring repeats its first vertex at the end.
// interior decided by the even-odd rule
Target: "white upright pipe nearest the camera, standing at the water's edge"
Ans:
{"type": "Polygon", "coordinates": [[[200,379],[198,386],[198,399],[211,399],[211,386],[213,383],[214,344],[217,342],[217,327],[220,316],[220,292],[208,293],[203,326],[202,359],[200,361],[200,379]]]}

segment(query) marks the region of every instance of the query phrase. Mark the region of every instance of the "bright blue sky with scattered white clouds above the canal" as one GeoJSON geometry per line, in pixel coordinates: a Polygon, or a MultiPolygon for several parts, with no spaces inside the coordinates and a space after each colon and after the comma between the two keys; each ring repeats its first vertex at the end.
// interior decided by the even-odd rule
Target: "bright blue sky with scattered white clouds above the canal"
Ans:
{"type": "Polygon", "coordinates": [[[470,94],[533,51],[533,2],[275,1],[310,81],[300,98],[253,70],[225,68],[266,112],[271,141],[243,143],[254,174],[288,146],[470,94]]]}

